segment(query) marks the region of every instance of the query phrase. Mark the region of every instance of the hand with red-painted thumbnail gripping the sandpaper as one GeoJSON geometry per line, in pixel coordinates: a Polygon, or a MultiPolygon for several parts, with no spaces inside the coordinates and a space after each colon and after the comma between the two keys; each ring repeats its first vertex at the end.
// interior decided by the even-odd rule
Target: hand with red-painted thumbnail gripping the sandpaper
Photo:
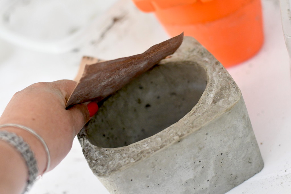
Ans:
{"type": "MultiPolygon", "coordinates": [[[[17,92],[0,118],[0,124],[24,125],[45,140],[51,156],[49,170],[68,154],[74,137],[90,119],[88,103],[65,109],[65,104],[75,86],[76,82],[71,80],[35,83],[17,92]]],[[[38,161],[39,173],[42,174],[46,168],[47,158],[40,141],[22,129],[5,127],[0,130],[15,132],[30,145],[38,161]]]]}

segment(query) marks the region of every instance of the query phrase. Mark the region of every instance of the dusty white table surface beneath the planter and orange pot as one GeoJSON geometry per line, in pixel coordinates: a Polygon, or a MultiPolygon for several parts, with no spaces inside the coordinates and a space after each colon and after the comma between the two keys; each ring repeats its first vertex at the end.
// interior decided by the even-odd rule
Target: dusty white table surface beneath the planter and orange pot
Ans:
{"type": "MultiPolygon", "coordinates": [[[[104,2],[104,1],[102,1],[104,2]]],[[[12,95],[39,81],[73,79],[81,56],[114,59],[139,54],[168,36],[152,14],[121,0],[92,22],[73,51],[45,53],[0,39],[0,113],[12,95]],[[112,22],[112,18],[120,18],[112,22]]],[[[228,68],[242,91],[265,166],[236,193],[291,193],[291,80],[278,1],[263,0],[265,42],[253,58],[228,68]]],[[[53,16],[52,16],[53,17],[53,16]]],[[[53,26],[52,26],[53,29],[53,26]]],[[[89,169],[75,138],[68,156],[31,194],[109,193],[89,169]]]]}

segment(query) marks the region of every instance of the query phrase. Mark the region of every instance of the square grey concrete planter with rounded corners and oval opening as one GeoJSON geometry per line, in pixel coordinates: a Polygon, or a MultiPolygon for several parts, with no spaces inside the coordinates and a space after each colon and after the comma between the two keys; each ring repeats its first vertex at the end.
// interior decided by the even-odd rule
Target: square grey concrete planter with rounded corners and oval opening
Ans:
{"type": "Polygon", "coordinates": [[[110,193],[225,193],[263,168],[241,92],[195,39],[112,95],[78,134],[110,193]]]}

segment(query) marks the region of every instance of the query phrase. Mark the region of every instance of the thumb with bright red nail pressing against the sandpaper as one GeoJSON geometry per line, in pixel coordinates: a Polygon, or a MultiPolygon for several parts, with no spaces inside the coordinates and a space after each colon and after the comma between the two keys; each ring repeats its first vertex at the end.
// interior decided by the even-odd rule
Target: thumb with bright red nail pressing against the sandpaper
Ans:
{"type": "Polygon", "coordinates": [[[97,113],[98,105],[96,102],[85,102],[76,104],[68,109],[74,123],[75,135],[84,127],[84,125],[97,113]]]}

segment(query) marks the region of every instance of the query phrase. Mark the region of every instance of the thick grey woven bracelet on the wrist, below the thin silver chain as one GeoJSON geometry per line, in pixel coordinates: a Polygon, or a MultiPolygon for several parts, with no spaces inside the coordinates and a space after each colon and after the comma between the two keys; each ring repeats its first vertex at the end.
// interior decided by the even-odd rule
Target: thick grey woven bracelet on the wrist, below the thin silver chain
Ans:
{"type": "Polygon", "coordinates": [[[24,142],[24,140],[17,136],[15,133],[8,132],[8,131],[0,131],[0,139],[6,141],[13,147],[17,149],[17,151],[22,155],[23,159],[28,168],[28,175],[29,178],[27,180],[26,189],[23,193],[29,190],[29,188],[34,183],[37,175],[38,175],[38,167],[37,162],[34,157],[33,152],[30,149],[30,146],[24,142]]]}

